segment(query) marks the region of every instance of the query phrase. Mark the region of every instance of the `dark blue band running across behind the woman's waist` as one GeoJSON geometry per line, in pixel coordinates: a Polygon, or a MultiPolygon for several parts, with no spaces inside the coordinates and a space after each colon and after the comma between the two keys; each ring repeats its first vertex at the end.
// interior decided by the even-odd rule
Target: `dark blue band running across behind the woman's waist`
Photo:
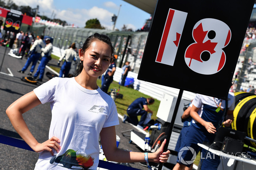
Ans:
{"type": "MultiPolygon", "coordinates": [[[[21,148],[21,149],[26,149],[28,151],[33,151],[25,141],[16,139],[13,137],[7,137],[4,135],[0,135],[0,143],[14,146],[14,147],[21,148]]],[[[139,170],[137,168],[132,168],[129,166],[124,166],[124,165],[120,165],[120,164],[116,164],[116,163],[112,163],[112,162],[108,162],[108,161],[103,161],[103,160],[99,160],[98,167],[104,168],[104,169],[139,170]]]]}

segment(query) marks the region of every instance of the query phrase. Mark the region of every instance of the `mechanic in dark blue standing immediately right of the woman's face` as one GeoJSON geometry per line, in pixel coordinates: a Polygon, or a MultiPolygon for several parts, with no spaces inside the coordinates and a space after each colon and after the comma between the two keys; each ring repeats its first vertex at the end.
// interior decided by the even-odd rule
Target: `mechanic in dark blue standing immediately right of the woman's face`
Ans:
{"type": "Polygon", "coordinates": [[[115,61],[116,61],[116,58],[113,57],[112,63],[109,65],[108,70],[106,71],[105,75],[102,78],[100,89],[105,93],[108,93],[108,87],[113,81],[113,75],[116,71],[115,61]]]}

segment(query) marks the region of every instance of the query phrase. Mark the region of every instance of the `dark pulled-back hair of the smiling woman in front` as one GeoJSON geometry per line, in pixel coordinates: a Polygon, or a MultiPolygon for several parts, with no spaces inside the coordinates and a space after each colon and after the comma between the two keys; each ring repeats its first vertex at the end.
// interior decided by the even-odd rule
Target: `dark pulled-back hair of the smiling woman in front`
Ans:
{"type": "MultiPolygon", "coordinates": [[[[115,48],[112,46],[112,42],[111,42],[110,38],[104,34],[94,33],[93,35],[89,36],[84,41],[84,45],[83,45],[83,47],[81,47],[83,52],[85,52],[91,46],[93,41],[102,41],[109,45],[109,47],[111,48],[111,51],[112,51],[112,55],[111,55],[111,59],[110,59],[110,63],[111,63],[113,56],[114,56],[115,48]]],[[[78,76],[82,72],[83,69],[84,69],[84,65],[83,65],[83,62],[81,62],[79,64],[79,68],[76,70],[76,72],[73,74],[72,77],[78,76]]]]}

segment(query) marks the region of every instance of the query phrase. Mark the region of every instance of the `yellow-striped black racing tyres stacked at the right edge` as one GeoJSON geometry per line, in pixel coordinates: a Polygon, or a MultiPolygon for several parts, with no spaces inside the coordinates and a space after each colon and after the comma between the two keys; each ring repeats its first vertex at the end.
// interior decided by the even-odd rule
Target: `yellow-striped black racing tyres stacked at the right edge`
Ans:
{"type": "MultiPolygon", "coordinates": [[[[247,137],[256,139],[256,95],[248,92],[235,92],[235,109],[232,129],[245,132],[247,137]]],[[[244,141],[256,148],[256,143],[244,141]]]]}

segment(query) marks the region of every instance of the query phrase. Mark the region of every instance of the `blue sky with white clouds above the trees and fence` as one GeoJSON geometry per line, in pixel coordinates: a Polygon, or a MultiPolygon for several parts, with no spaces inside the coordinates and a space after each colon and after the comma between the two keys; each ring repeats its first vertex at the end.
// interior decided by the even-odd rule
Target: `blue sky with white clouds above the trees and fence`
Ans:
{"type": "Polygon", "coordinates": [[[97,18],[101,26],[111,30],[113,27],[111,18],[113,14],[118,14],[119,8],[115,26],[119,30],[125,25],[136,31],[150,18],[149,13],[123,0],[13,0],[13,2],[18,6],[31,8],[39,5],[39,15],[51,18],[54,12],[55,18],[78,27],[84,27],[87,20],[97,18]]]}

